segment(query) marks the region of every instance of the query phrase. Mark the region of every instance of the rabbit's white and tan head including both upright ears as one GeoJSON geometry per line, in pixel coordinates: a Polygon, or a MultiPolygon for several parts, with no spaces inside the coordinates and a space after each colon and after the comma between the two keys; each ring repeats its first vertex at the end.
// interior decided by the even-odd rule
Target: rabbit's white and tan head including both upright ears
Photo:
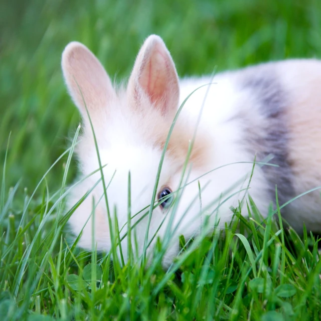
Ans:
{"type": "MultiPolygon", "coordinates": [[[[83,119],[83,132],[76,146],[83,181],[73,188],[69,205],[79,201],[101,178],[100,172],[92,174],[99,169],[95,137],[110,216],[114,224],[116,213],[120,237],[127,233],[130,173],[132,240],[137,244],[133,250],[138,255],[142,253],[148,226],[148,251],[157,236],[162,239],[171,230],[173,242],[163,261],[167,265],[178,254],[177,236],[192,235],[201,227],[196,179],[206,169],[209,148],[205,135],[200,132],[189,152],[195,128],[183,115],[178,117],[167,140],[180,100],[179,79],[169,51],[161,38],[149,36],[138,53],[126,88],[115,89],[97,58],[77,42],[70,43],[64,50],[62,70],[70,96],[83,119]],[[165,147],[161,174],[155,186],[165,147]],[[185,166],[188,153],[189,162],[185,166]],[[195,180],[187,186],[184,180],[182,184],[184,169],[189,173],[189,181],[195,180]],[[152,199],[154,188],[155,199],[152,199]],[[177,195],[180,197],[173,214],[171,210],[177,195]],[[159,204],[153,209],[148,224],[146,213],[155,202],[159,204]]],[[[69,225],[76,236],[82,233],[78,243],[81,247],[92,247],[93,234],[98,250],[110,250],[111,235],[102,182],[76,209],[69,225]],[[90,218],[92,213],[94,220],[90,218]]],[[[125,260],[127,240],[124,237],[121,242],[125,260]]]]}

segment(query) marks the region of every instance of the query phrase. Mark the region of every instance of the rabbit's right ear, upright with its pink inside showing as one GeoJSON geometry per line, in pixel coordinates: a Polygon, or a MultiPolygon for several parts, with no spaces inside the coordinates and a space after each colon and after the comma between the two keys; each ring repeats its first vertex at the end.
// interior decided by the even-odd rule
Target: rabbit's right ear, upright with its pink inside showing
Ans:
{"type": "Polygon", "coordinates": [[[147,98],[163,115],[173,115],[179,104],[179,79],[162,38],[151,35],[141,47],[127,88],[136,106],[147,98]]]}

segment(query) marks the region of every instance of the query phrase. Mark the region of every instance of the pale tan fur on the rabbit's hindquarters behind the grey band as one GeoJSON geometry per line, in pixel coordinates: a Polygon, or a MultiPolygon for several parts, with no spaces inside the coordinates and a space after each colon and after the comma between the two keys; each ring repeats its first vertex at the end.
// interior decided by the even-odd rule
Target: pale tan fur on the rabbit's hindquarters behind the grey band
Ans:
{"type": "MultiPolygon", "coordinates": [[[[296,61],[280,65],[290,105],[289,163],[297,194],[321,184],[321,62],[296,61]]],[[[319,192],[306,195],[310,205],[320,203],[319,192]]]]}

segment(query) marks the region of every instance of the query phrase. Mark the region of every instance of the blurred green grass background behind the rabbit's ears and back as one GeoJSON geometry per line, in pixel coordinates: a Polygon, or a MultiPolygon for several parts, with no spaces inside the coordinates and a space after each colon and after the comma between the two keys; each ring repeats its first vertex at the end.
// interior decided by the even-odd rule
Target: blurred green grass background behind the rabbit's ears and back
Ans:
{"type": "MultiPolygon", "coordinates": [[[[180,76],[321,56],[319,0],[2,0],[0,8],[0,166],[11,132],[7,187],[22,179],[33,189],[75,132],[80,118],[60,69],[70,41],[88,46],[117,81],[129,76],[152,33],[165,40],[180,76]]],[[[63,162],[47,177],[51,191],[62,175],[63,162]]]]}

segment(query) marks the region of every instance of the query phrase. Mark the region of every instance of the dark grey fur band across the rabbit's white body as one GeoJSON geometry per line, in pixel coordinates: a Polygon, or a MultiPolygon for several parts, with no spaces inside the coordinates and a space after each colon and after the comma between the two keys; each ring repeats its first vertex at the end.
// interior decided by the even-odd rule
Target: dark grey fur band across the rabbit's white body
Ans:
{"type": "Polygon", "coordinates": [[[250,146],[254,147],[251,151],[253,154],[256,153],[256,161],[260,162],[271,154],[273,158],[269,163],[278,166],[263,166],[262,170],[269,184],[271,200],[275,204],[276,186],[281,206],[295,196],[292,169],[288,162],[289,133],[284,113],[287,99],[277,77],[271,74],[270,70],[258,68],[258,71],[261,73],[251,72],[243,79],[242,89],[250,90],[257,103],[256,112],[266,121],[248,122],[245,128],[250,146]]]}

